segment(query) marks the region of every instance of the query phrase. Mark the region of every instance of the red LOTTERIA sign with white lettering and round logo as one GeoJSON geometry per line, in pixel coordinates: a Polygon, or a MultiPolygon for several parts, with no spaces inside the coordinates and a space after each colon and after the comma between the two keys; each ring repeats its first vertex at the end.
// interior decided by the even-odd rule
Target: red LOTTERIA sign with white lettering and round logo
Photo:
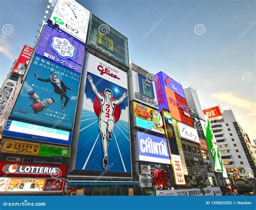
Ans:
{"type": "Polygon", "coordinates": [[[33,177],[65,177],[65,165],[0,162],[0,175],[33,177]]]}

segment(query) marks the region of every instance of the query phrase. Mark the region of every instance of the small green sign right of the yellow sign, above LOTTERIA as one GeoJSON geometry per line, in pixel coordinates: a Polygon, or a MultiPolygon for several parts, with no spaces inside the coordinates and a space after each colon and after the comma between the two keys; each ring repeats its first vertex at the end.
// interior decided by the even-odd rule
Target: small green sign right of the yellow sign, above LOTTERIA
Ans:
{"type": "Polygon", "coordinates": [[[43,157],[69,157],[70,148],[57,148],[53,146],[41,145],[38,155],[43,157]]]}

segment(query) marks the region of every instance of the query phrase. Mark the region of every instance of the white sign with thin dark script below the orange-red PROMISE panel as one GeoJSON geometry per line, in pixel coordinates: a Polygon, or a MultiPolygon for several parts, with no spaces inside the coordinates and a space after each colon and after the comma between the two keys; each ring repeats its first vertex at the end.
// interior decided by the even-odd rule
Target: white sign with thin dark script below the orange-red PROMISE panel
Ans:
{"type": "Polygon", "coordinates": [[[196,129],[181,122],[178,122],[178,128],[181,138],[185,138],[187,140],[200,144],[199,136],[196,129]]]}

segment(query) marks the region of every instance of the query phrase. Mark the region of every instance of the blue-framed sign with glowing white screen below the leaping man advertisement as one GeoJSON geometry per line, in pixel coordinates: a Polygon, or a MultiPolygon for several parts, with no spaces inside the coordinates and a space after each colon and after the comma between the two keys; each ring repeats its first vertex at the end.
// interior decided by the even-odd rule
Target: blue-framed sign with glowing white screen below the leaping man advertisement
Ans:
{"type": "Polygon", "coordinates": [[[3,136],[27,139],[29,141],[71,145],[72,132],[41,125],[8,120],[3,136]]]}

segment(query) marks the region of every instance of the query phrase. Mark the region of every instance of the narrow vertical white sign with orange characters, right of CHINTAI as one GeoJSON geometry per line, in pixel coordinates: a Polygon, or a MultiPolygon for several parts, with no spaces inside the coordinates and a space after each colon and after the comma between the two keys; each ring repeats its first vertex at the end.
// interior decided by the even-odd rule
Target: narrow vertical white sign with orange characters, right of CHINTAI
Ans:
{"type": "Polygon", "coordinates": [[[181,159],[179,155],[171,155],[171,160],[172,160],[172,172],[174,176],[174,183],[176,185],[185,185],[185,177],[184,177],[184,172],[182,169],[181,165],[181,159]]]}

